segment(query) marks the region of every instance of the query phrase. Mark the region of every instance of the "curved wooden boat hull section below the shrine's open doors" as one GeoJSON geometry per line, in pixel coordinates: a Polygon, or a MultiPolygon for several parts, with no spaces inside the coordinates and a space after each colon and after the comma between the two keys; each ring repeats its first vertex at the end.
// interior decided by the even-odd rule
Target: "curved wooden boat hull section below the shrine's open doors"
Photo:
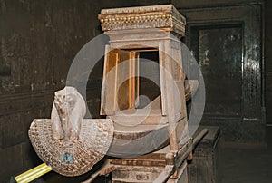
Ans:
{"type": "Polygon", "coordinates": [[[168,125],[122,126],[114,123],[114,135],[108,155],[135,157],[159,149],[169,142],[168,125]]]}

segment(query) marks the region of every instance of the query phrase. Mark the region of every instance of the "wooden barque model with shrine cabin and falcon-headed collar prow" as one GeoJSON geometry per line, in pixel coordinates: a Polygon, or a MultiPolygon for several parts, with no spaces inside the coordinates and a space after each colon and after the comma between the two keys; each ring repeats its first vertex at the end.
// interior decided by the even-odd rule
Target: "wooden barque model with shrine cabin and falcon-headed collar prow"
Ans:
{"type": "Polygon", "coordinates": [[[185,81],[182,70],[185,18],[173,5],[155,5],[102,9],[99,20],[110,38],[101,99],[106,119],[83,119],[83,98],[65,87],[55,92],[51,120],[32,123],[34,149],[65,176],[82,175],[107,155],[86,182],[112,172],[113,182],[186,183],[186,159],[207,131],[189,137],[186,99],[198,84],[185,81]],[[146,86],[156,88],[147,81],[159,88],[151,102],[142,97],[146,86]]]}

